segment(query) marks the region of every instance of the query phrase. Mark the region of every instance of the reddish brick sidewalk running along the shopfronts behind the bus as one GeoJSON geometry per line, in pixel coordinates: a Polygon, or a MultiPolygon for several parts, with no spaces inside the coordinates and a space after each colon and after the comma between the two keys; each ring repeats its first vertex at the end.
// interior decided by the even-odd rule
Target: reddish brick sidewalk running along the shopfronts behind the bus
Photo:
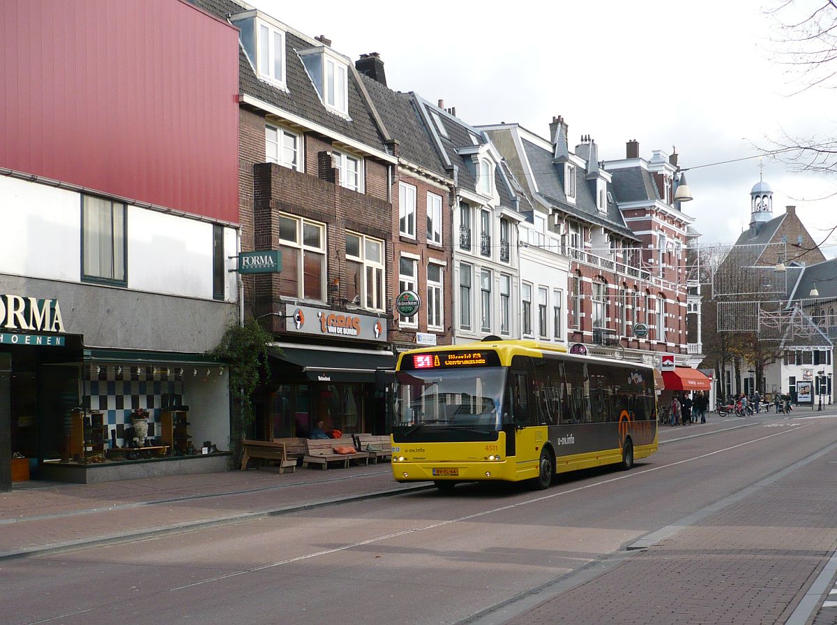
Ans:
{"type": "MultiPolygon", "coordinates": [[[[688,430],[660,427],[660,443],[757,423],[752,418],[722,418],[715,413],[708,413],[707,421],[688,430]]],[[[654,457],[644,462],[653,463],[654,457]]],[[[15,483],[11,492],[0,493],[0,561],[177,534],[422,488],[434,487],[429,482],[395,482],[388,463],[283,474],[266,467],[118,483],[15,483]]]]}

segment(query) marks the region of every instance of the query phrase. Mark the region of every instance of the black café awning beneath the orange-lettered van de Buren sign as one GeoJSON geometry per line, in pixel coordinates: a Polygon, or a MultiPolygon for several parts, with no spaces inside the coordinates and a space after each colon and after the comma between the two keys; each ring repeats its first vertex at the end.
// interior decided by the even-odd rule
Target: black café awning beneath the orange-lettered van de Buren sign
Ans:
{"type": "Polygon", "coordinates": [[[385,381],[392,378],[395,369],[392,352],[374,349],[273,345],[268,347],[268,354],[278,374],[283,369],[295,369],[296,374],[312,382],[385,381]]]}

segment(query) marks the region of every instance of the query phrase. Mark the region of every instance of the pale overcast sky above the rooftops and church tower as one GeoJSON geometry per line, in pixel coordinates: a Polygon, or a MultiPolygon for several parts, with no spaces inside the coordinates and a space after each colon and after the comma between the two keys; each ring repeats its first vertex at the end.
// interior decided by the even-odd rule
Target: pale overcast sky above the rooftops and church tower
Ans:
{"type": "MultiPolygon", "coordinates": [[[[640,156],[676,146],[694,200],[701,243],[731,243],[750,218],[758,182],[752,147],[770,137],[834,136],[834,92],[798,91],[771,49],[775,0],[640,0],[516,3],[290,3],[250,0],[310,36],[326,35],[336,51],[357,59],[378,52],[388,86],[444,100],[474,125],[518,122],[548,137],[552,116],[569,125],[571,146],[590,135],[599,158],[624,158],[625,142],[640,156]]],[[[763,159],[773,187],[773,214],[786,204],[814,240],[837,223],[837,178],[790,173],[763,159]]],[[[837,238],[824,247],[837,256],[837,238]]]]}

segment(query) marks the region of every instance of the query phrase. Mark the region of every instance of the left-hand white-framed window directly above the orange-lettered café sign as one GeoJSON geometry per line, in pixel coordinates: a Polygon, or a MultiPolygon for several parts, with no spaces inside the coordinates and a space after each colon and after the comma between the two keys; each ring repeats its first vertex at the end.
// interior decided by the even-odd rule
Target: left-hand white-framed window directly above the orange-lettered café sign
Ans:
{"type": "Polygon", "coordinates": [[[325,302],[326,225],[280,214],[279,249],[282,253],[280,295],[325,302]]]}

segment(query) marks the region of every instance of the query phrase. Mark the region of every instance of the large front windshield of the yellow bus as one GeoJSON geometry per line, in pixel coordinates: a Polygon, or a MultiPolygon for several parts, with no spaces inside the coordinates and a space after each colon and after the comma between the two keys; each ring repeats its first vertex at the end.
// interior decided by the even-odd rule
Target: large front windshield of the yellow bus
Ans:
{"type": "Polygon", "coordinates": [[[398,371],[394,431],[465,427],[502,428],[501,405],[506,369],[428,369],[398,371]]]}

